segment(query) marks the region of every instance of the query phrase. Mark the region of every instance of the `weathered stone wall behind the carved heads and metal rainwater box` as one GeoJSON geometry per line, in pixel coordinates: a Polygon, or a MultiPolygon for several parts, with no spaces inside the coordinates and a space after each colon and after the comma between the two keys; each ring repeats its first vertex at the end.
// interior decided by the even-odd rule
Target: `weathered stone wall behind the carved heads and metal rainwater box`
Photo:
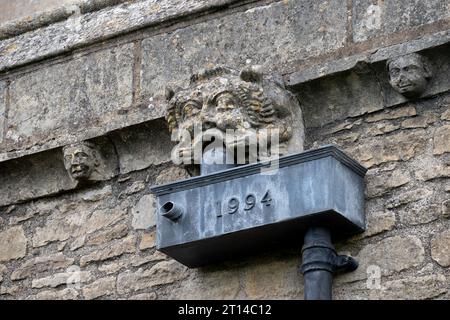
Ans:
{"type": "Polygon", "coordinates": [[[169,160],[164,88],[215,64],[281,74],[306,148],[369,168],[367,230],[336,244],[360,267],[336,299],[450,298],[449,1],[100,2],[0,25],[0,299],[303,297],[301,239],[200,269],[155,250],[149,186],[188,177],[169,160]],[[387,80],[410,52],[434,67],[416,100],[387,80]],[[112,173],[80,187],[61,148],[85,139],[112,173]]]}

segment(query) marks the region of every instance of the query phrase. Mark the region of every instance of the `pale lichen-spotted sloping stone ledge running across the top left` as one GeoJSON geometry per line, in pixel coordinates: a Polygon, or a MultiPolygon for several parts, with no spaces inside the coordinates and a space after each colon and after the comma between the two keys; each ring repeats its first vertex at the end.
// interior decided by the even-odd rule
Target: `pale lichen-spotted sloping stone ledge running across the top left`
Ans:
{"type": "Polygon", "coordinates": [[[0,71],[232,2],[235,0],[147,0],[75,16],[2,41],[0,71]]]}

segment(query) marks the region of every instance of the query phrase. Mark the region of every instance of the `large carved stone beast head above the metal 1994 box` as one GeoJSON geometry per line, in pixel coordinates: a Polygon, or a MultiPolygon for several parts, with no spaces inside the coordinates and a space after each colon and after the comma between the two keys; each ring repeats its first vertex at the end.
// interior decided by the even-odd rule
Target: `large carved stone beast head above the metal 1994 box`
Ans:
{"type": "Polygon", "coordinates": [[[303,150],[303,117],[296,98],[281,77],[266,76],[259,66],[241,72],[224,66],[203,70],[191,77],[188,88],[167,89],[166,98],[169,130],[178,134],[175,152],[191,163],[200,163],[194,149],[199,144],[205,149],[208,132],[226,150],[247,148],[246,163],[263,160],[261,152],[249,157],[251,141],[258,141],[258,148],[276,141],[278,154],[270,157],[303,150]]]}

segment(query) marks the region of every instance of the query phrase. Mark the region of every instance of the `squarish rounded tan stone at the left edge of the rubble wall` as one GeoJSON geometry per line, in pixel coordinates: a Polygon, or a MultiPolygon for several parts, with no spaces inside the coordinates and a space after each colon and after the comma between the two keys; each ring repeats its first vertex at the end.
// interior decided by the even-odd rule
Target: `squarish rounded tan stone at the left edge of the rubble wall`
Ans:
{"type": "Polygon", "coordinates": [[[22,227],[12,227],[0,232],[0,243],[0,262],[25,257],[27,238],[22,227]]]}

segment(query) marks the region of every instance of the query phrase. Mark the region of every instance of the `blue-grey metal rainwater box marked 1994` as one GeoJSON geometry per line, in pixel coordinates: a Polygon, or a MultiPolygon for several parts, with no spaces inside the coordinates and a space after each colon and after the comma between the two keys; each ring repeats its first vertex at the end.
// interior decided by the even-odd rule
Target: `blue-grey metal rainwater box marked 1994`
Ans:
{"type": "Polygon", "coordinates": [[[197,267],[252,253],[261,247],[301,243],[311,225],[333,236],[365,228],[366,169],[333,146],[245,165],[151,190],[158,208],[172,202],[176,221],[158,213],[157,249],[197,267]]]}

